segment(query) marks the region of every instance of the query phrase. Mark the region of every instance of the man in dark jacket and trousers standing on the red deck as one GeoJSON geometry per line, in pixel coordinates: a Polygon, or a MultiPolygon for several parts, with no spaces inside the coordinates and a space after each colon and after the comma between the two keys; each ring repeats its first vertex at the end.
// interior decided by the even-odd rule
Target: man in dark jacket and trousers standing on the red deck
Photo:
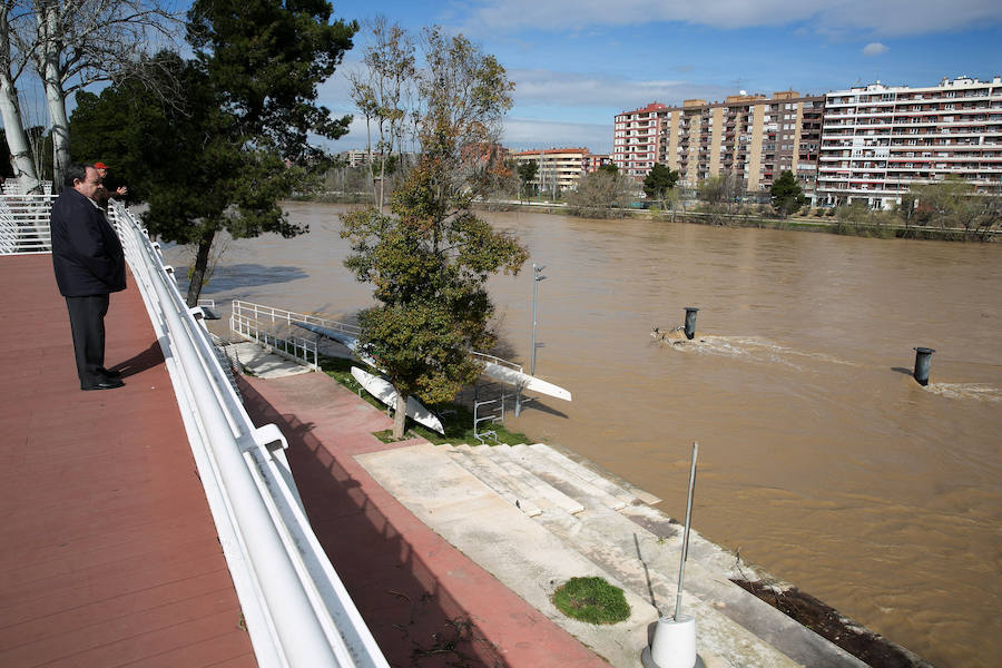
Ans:
{"type": "Polygon", "coordinates": [[[92,165],[70,165],[52,204],[52,268],[66,297],[81,390],[125,383],[105,369],[108,295],[125,289],[125,254],[118,235],[94,202],[101,177],[92,165]]]}

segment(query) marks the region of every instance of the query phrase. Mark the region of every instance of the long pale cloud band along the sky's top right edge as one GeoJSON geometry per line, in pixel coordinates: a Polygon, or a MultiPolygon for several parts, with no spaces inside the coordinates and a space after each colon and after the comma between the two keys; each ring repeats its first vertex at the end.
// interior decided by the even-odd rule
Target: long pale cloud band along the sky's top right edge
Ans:
{"type": "Polygon", "coordinates": [[[679,21],[713,28],[805,23],[841,36],[923,35],[1002,22],[998,0],[478,0],[466,30],[580,30],[679,21]]]}

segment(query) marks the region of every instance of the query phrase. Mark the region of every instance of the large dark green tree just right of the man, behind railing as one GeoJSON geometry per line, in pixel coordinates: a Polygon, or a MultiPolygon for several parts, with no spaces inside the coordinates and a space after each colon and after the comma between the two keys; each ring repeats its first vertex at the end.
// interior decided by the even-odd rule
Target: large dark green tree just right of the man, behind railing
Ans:
{"type": "Polygon", "coordinates": [[[291,237],[307,229],[289,223],[278,200],[302,178],[286,161],[323,155],[308,134],[337,138],[351,121],[316,104],[317,86],[357,30],[331,17],[325,0],[196,0],[187,26],[195,60],[167,56],[153,69],[181,82],[177,99],[144,92],[140,84],[85,96],[79,121],[90,128],[100,124],[97,114],[116,114],[116,104],[127,112],[92,138],[121,151],[115,159],[149,203],[150,232],[196,246],[189,305],[198,301],[219,232],[291,237]]]}

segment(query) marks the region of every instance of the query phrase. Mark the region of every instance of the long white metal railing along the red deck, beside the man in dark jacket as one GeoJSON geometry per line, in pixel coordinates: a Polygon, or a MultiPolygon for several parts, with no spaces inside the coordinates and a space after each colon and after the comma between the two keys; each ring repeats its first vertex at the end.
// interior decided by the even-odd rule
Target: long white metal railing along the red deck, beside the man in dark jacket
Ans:
{"type": "Polygon", "coordinates": [[[110,218],[164,351],[258,665],[389,668],[310,527],[282,432],[254,426],[159,246],[118,203],[110,218]]]}

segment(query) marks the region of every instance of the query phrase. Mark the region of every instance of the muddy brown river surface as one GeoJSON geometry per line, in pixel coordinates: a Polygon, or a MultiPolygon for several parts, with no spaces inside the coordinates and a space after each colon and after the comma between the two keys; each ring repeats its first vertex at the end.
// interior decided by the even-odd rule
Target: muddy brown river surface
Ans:
{"type": "MultiPolygon", "coordinates": [[[[230,242],[204,297],[350,318],[336,206],[230,242]]],[[[1002,656],[1002,245],[483,214],[531,253],[490,288],[542,397],[510,426],[560,443],[694,528],[936,666],[1002,656]],[[697,342],[651,336],[700,311],[697,342]],[[930,384],[914,346],[935,348],[930,384]]],[[[184,265],[180,250],[171,249],[184,265]]]]}

